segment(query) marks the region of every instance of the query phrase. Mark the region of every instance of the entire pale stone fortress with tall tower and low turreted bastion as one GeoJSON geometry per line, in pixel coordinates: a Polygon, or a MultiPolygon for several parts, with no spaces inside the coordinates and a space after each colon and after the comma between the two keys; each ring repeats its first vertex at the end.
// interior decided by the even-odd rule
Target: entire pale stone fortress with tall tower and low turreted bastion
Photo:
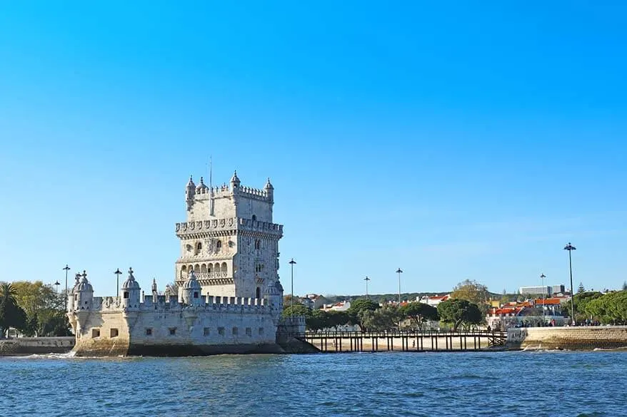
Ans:
{"type": "Polygon", "coordinates": [[[280,352],[280,334],[304,331],[304,319],[281,321],[279,240],[274,187],[208,187],[190,177],[186,221],[176,223],[181,252],[177,289],[143,295],[134,272],[117,297],[94,297],[86,274],[68,296],[74,351],[83,356],[179,356],[280,352]],[[177,294],[174,292],[178,292],[177,294]],[[143,299],[142,299],[143,298],[143,299]]]}

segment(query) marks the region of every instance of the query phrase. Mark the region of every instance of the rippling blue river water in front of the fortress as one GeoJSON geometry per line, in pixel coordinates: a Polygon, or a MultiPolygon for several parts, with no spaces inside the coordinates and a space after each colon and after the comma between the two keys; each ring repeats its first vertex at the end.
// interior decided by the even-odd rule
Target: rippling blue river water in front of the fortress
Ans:
{"type": "Polygon", "coordinates": [[[0,358],[0,416],[627,416],[627,352],[0,358]]]}

